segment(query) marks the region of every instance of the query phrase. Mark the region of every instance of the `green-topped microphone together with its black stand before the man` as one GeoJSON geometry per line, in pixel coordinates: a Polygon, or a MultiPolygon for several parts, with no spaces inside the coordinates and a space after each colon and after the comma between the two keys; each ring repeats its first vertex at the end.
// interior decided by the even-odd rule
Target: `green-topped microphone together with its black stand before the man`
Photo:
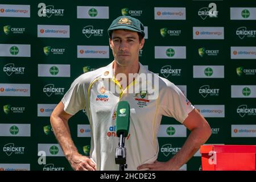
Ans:
{"type": "Polygon", "coordinates": [[[125,171],[126,164],[126,148],[125,137],[129,133],[130,127],[130,106],[127,101],[120,101],[117,106],[117,117],[115,118],[115,129],[119,142],[115,148],[115,164],[119,164],[119,171],[125,171]]]}

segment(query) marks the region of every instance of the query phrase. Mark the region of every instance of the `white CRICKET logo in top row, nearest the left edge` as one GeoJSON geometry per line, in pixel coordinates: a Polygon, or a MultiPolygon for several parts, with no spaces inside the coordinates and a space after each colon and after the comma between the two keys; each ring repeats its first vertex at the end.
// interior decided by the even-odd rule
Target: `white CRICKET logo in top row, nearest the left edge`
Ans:
{"type": "Polygon", "coordinates": [[[50,18],[54,16],[64,16],[64,9],[55,9],[53,5],[46,6],[45,3],[38,4],[38,16],[50,18]]]}

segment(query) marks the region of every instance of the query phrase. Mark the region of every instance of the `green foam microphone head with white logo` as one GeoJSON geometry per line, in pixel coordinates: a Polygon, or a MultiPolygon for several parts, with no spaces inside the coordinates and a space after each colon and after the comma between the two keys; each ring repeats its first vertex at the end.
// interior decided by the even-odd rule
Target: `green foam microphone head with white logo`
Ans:
{"type": "Polygon", "coordinates": [[[117,117],[115,118],[115,129],[117,137],[123,133],[127,137],[130,128],[130,105],[127,101],[120,101],[117,106],[117,117]]]}

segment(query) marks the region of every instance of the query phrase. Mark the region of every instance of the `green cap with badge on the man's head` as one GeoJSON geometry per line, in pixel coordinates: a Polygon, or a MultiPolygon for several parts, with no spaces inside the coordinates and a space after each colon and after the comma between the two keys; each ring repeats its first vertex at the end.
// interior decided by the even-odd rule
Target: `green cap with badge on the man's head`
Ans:
{"type": "Polygon", "coordinates": [[[144,26],[141,21],[131,16],[119,16],[117,19],[113,20],[108,29],[109,36],[111,31],[117,29],[127,29],[141,33],[143,38],[145,36],[144,26]]]}

